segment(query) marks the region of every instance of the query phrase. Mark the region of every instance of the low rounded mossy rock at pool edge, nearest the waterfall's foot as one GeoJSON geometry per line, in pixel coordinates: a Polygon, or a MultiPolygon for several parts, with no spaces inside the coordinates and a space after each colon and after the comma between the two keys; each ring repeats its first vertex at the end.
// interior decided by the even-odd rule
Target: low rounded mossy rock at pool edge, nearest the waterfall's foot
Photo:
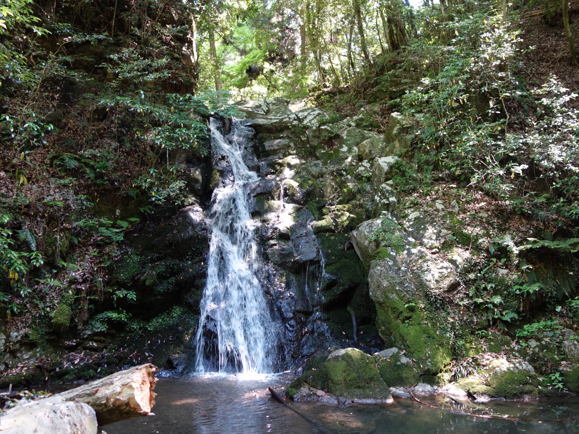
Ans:
{"type": "Polygon", "coordinates": [[[304,383],[347,399],[391,400],[390,389],[380,377],[375,359],[357,348],[336,350],[325,360],[313,357],[305,367],[305,374],[288,388],[288,395],[293,396],[304,383]]]}

